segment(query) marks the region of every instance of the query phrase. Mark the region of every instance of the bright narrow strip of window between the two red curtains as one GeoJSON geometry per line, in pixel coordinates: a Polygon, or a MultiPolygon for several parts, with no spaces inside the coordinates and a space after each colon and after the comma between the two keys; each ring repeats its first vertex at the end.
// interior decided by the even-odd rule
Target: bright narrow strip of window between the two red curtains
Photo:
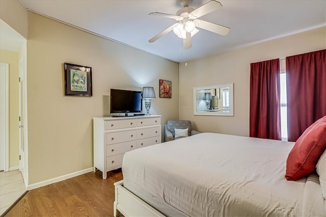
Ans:
{"type": "Polygon", "coordinates": [[[286,72],[280,72],[281,137],[287,141],[286,72]]]}

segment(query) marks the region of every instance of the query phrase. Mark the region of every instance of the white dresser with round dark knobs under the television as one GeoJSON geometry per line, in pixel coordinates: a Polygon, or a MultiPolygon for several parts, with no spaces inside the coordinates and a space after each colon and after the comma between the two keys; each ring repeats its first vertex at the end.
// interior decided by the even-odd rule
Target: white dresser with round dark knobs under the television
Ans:
{"type": "Polygon", "coordinates": [[[94,172],[122,166],[126,151],[161,143],[160,115],[94,117],[94,172]]]}

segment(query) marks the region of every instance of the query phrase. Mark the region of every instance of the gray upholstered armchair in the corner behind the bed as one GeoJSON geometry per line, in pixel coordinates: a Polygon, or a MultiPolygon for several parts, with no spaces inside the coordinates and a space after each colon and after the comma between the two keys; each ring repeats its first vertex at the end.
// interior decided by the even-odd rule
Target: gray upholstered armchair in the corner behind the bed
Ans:
{"type": "Polygon", "coordinates": [[[188,136],[193,136],[201,132],[195,131],[192,128],[192,122],[190,120],[168,120],[168,123],[165,125],[165,138],[164,141],[172,141],[175,139],[180,139],[182,137],[174,138],[175,132],[174,129],[187,129],[188,136]]]}

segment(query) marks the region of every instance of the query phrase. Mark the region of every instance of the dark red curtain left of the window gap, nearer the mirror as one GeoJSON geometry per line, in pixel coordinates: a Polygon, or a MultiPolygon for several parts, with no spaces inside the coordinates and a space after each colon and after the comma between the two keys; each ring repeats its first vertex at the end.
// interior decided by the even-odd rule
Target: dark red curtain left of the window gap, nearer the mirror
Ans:
{"type": "Polygon", "coordinates": [[[280,60],[250,64],[250,137],[281,140],[280,60]]]}

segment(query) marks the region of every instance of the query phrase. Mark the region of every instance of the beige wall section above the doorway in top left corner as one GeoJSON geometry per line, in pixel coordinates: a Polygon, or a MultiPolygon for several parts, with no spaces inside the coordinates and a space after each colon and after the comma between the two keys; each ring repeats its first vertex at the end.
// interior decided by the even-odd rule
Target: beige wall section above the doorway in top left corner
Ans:
{"type": "Polygon", "coordinates": [[[0,18],[25,39],[28,38],[28,14],[26,8],[19,1],[1,0],[0,18]]]}

